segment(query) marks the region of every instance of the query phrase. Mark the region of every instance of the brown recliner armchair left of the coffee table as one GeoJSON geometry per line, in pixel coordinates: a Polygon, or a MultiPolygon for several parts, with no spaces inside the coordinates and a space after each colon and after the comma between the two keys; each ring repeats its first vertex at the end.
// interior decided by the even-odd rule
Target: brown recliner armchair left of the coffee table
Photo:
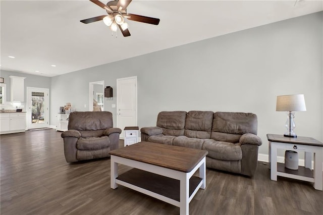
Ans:
{"type": "Polygon", "coordinates": [[[119,147],[120,128],[113,128],[110,112],[73,112],[62,133],[66,162],[109,157],[119,147]]]}

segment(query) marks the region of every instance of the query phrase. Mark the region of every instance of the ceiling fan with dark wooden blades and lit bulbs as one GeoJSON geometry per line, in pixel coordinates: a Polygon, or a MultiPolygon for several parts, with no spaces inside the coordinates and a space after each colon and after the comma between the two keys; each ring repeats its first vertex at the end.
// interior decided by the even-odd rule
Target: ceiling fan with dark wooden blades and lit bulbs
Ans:
{"type": "Polygon", "coordinates": [[[128,14],[127,7],[131,3],[132,0],[115,0],[106,3],[104,5],[100,1],[90,0],[92,3],[97,6],[105,9],[107,15],[92,17],[89,19],[80,20],[80,22],[88,24],[96,21],[103,20],[104,24],[110,26],[110,29],[114,32],[117,31],[118,27],[121,30],[123,36],[130,36],[130,32],[128,30],[128,23],[125,22],[125,18],[132,21],[148,23],[152,25],[158,25],[159,19],[152,17],[145,17],[136,14],[128,14]]]}

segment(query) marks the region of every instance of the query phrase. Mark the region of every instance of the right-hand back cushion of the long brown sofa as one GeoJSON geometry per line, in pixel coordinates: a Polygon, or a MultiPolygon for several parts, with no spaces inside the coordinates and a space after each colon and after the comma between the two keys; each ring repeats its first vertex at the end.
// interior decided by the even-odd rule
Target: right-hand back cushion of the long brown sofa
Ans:
{"type": "Polygon", "coordinates": [[[214,113],[211,138],[217,141],[236,143],[242,134],[257,135],[257,115],[252,113],[214,113]]]}

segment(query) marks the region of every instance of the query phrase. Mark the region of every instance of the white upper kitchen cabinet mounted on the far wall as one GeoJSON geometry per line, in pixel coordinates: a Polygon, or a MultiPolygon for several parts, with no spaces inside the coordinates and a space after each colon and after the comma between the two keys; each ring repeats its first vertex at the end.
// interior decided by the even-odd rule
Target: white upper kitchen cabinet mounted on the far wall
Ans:
{"type": "Polygon", "coordinates": [[[23,102],[25,98],[25,93],[24,93],[25,77],[9,76],[9,78],[10,78],[11,101],[23,102]]]}

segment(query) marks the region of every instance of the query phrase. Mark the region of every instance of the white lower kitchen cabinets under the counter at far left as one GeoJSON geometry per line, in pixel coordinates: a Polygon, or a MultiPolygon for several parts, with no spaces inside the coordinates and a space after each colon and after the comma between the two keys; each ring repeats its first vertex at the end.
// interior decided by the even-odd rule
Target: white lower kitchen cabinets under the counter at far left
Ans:
{"type": "Polygon", "coordinates": [[[25,132],[26,113],[1,113],[0,122],[0,134],[25,132]]]}

